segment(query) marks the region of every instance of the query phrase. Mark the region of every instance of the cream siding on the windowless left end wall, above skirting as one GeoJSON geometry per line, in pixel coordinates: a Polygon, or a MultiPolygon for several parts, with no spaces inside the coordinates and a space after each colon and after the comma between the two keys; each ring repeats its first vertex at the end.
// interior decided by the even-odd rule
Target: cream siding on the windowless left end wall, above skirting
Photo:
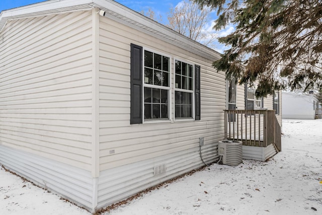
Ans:
{"type": "Polygon", "coordinates": [[[92,20],[10,20],[0,33],[0,144],[90,169],[92,20]]]}

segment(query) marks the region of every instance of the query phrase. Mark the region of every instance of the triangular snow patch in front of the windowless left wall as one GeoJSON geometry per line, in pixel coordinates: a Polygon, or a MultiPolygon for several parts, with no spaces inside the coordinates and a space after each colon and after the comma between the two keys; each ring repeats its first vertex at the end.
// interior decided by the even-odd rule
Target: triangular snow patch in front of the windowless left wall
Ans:
{"type": "Polygon", "coordinates": [[[90,215],[91,213],[1,168],[0,214],[90,215]]]}

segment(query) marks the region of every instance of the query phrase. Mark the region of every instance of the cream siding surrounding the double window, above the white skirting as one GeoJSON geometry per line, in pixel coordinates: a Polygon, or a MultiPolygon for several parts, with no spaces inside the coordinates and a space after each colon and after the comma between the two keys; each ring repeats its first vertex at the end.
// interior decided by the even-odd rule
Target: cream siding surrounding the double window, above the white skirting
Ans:
{"type": "MultiPolygon", "coordinates": [[[[199,137],[205,144],[223,138],[224,74],[211,67],[211,60],[108,18],[101,18],[100,56],[101,171],[198,147],[199,137]],[[201,66],[200,121],[130,125],[131,43],[172,56],[172,86],[174,58],[201,66]]],[[[173,103],[173,89],[171,94],[173,103]]]]}

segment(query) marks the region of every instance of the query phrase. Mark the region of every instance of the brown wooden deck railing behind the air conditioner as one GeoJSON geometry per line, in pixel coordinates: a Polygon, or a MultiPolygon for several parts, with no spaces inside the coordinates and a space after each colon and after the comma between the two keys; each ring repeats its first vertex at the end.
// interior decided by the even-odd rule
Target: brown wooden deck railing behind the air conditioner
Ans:
{"type": "Polygon", "coordinates": [[[281,127],[275,110],[224,110],[225,139],[243,141],[244,146],[267,147],[282,150],[281,127]]]}

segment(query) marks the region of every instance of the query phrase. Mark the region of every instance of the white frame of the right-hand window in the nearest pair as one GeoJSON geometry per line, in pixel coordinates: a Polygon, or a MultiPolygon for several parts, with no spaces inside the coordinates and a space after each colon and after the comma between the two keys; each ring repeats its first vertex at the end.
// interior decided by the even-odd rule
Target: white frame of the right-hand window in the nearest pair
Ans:
{"type": "Polygon", "coordinates": [[[173,64],[174,64],[174,68],[173,68],[173,119],[174,121],[194,121],[195,120],[195,105],[196,105],[196,102],[195,102],[195,63],[192,62],[192,61],[189,61],[189,60],[184,60],[184,59],[181,59],[181,58],[178,58],[178,57],[175,57],[174,58],[174,61],[173,61],[173,64]],[[185,89],[177,89],[176,88],[176,61],[181,61],[181,62],[184,62],[184,63],[187,63],[187,64],[190,64],[192,65],[192,76],[193,76],[193,80],[192,80],[192,83],[193,83],[193,90],[185,90],[185,89]],[[186,92],[186,93],[192,93],[192,117],[191,118],[176,118],[176,91],[180,91],[180,92],[186,92]]]}

